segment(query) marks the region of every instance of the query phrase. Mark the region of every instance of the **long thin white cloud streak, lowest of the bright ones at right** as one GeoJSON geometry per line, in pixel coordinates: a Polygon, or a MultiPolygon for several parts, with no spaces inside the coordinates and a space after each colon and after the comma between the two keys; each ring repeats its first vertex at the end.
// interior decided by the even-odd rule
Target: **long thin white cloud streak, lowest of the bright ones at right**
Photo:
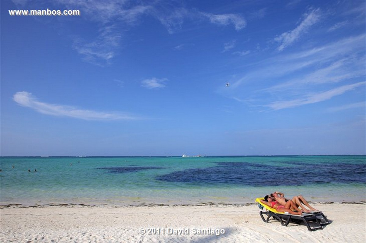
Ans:
{"type": "Polygon", "coordinates": [[[329,100],[334,96],[339,96],[347,91],[353,90],[356,87],[363,86],[363,85],[366,85],[366,82],[358,82],[358,83],[354,83],[351,85],[340,86],[335,89],[327,90],[324,92],[310,94],[307,97],[299,98],[296,100],[275,101],[275,102],[272,102],[272,104],[269,104],[268,106],[274,110],[279,110],[279,109],[296,107],[296,106],[300,106],[300,105],[313,104],[313,103],[329,100]]]}

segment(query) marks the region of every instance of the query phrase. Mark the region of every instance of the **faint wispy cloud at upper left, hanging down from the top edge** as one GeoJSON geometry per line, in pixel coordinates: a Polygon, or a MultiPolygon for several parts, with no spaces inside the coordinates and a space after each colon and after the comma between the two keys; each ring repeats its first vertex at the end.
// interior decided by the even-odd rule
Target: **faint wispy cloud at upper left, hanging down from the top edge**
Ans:
{"type": "Polygon", "coordinates": [[[59,3],[81,10],[84,20],[97,23],[94,40],[75,35],[72,47],[83,60],[100,66],[110,63],[120,49],[123,33],[119,26],[136,25],[139,17],[150,9],[145,5],[130,6],[124,1],[61,0],[59,3]]]}

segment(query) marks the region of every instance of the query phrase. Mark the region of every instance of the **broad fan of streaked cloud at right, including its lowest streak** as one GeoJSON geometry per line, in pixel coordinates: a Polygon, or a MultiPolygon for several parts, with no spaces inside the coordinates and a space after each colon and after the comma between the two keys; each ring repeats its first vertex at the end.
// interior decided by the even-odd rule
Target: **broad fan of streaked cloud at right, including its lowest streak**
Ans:
{"type": "Polygon", "coordinates": [[[338,83],[358,83],[366,76],[365,40],[365,34],[347,37],[251,63],[244,76],[232,81],[230,95],[252,107],[271,109],[312,104],[341,95],[346,91],[336,94],[341,91],[338,83]],[[264,88],[257,88],[257,84],[264,88]]]}

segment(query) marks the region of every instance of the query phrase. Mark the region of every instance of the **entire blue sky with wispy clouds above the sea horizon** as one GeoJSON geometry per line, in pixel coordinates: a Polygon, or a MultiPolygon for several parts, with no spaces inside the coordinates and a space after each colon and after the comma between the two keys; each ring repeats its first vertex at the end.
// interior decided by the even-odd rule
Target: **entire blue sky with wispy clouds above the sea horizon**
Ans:
{"type": "Polygon", "coordinates": [[[365,1],[1,1],[0,155],[366,154],[365,13],[365,1]],[[8,13],[46,9],[81,15],[8,13]]]}

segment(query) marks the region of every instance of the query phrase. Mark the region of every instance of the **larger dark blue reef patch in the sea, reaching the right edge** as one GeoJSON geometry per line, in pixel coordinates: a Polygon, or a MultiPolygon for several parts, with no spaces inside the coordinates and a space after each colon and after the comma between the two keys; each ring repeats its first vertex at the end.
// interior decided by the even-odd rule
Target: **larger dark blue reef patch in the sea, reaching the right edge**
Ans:
{"type": "Polygon", "coordinates": [[[249,186],[300,186],[305,184],[366,183],[366,164],[217,162],[207,168],[185,169],[156,177],[166,182],[240,184],[249,186]]]}

